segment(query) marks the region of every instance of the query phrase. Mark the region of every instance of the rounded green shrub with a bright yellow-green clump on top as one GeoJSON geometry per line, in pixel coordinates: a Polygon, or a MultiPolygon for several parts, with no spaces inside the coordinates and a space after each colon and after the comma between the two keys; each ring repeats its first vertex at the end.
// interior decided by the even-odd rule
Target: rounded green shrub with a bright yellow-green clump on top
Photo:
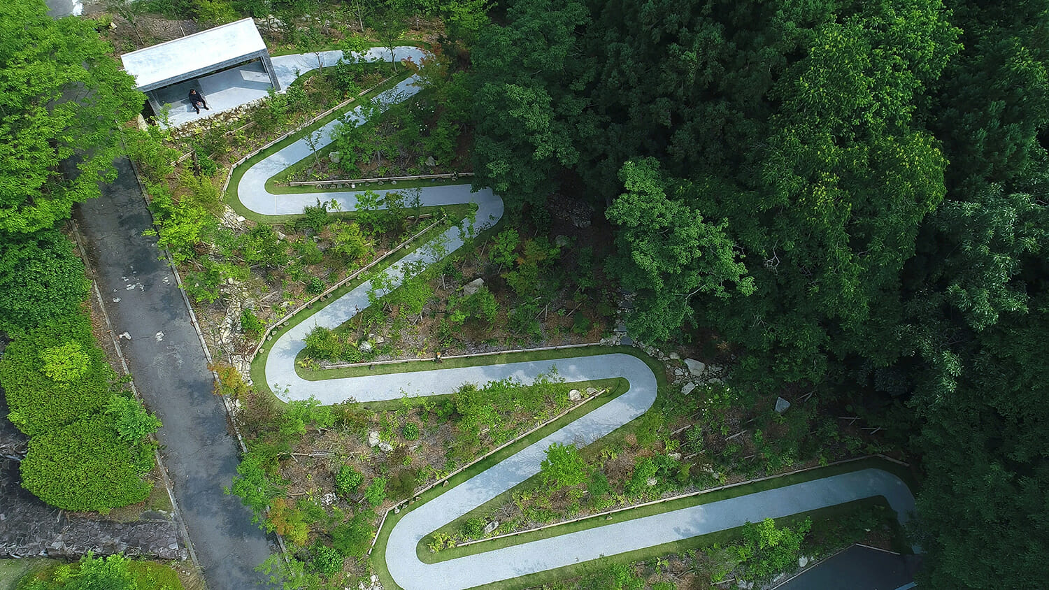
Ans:
{"type": "Polygon", "coordinates": [[[102,409],[115,379],[83,312],[29,330],[0,358],[9,418],[29,436],[102,409]]]}

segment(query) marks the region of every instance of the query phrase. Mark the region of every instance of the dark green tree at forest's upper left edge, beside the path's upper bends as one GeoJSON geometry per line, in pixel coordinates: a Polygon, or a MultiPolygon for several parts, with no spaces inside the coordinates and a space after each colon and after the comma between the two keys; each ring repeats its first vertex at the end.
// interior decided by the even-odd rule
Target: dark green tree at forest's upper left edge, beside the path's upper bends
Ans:
{"type": "Polygon", "coordinates": [[[593,75],[579,50],[590,13],[580,0],[520,0],[506,26],[481,31],[475,68],[475,183],[511,211],[544,203],[557,175],[579,160],[575,125],[593,75]],[[571,81],[571,82],[570,82],[571,81]]]}

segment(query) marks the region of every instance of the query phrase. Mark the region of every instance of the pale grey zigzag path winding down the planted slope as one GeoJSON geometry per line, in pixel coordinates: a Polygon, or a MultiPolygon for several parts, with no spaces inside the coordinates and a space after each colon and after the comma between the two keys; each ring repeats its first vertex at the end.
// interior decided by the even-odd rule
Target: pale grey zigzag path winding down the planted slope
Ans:
{"type": "MultiPolygon", "coordinates": [[[[395,89],[381,94],[379,101],[389,104],[410,96],[418,91],[412,83],[413,79],[402,82],[395,89]]],[[[351,113],[349,118],[360,121],[359,111],[351,113]]],[[[327,141],[330,127],[331,125],[325,128],[322,141],[327,141]]],[[[304,205],[314,204],[319,198],[322,201],[334,199],[344,211],[352,211],[359,194],[357,192],[275,195],[266,191],[266,178],[312,153],[305,140],[299,140],[253,166],[244,173],[237,187],[241,203],[259,214],[286,215],[301,213],[304,205]]],[[[478,225],[495,223],[502,215],[502,200],[487,190],[474,193],[468,185],[432,187],[423,189],[421,196],[425,205],[476,203],[478,225]]],[[[387,269],[393,284],[400,284],[406,272],[418,271],[421,267],[408,263],[429,263],[443,256],[442,253],[458,248],[463,243],[463,230],[452,227],[435,240],[443,247],[424,245],[387,269]]],[[[615,400],[404,515],[390,531],[383,555],[390,574],[402,588],[471,588],[602,555],[733,528],[747,521],[779,518],[874,496],[885,497],[897,511],[900,522],[904,522],[914,508],[914,498],[902,481],[880,469],[862,469],[425,564],[419,559],[416,551],[426,536],[538,473],[543,452],[552,442],[585,444],[643,414],[656,399],[657,380],[642,360],[615,353],[318,381],[300,377],[295,371],[295,356],[304,347],[302,341],[305,334],[314,326],[335,328],[352,318],[367,307],[369,289],[369,283],[362,284],[278,337],[265,362],[267,384],[274,386],[275,390],[286,391],[291,398],[305,399],[315,396],[324,403],[336,403],[350,396],[359,401],[371,401],[397,399],[405,394],[445,394],[464,383],[487,383],[507,377],[528,384],[540,373],[548,373],[555,367],[558,374],[569,381],[624,377],[630,385],[629,390],[615,400]]]]}

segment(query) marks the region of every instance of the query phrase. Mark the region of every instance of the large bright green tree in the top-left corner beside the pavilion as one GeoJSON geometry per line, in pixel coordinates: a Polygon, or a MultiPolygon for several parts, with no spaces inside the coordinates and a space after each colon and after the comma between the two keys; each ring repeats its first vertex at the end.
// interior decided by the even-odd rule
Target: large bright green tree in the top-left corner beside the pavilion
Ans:
{"type": "Polygon", "coordinates": [[[112,180],[120,127],[145,97],[82,19],[0,4],[0,231],[36,232],[112,180]]]}

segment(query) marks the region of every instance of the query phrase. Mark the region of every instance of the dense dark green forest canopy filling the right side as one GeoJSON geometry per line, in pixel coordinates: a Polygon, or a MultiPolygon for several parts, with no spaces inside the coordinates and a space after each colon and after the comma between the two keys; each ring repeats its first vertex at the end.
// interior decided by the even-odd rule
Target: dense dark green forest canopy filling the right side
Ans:
{"type": "Polygon", "coordinates": [[[859,402],[921,457],[932,587],[1049,554],[1049,2],[517,0],[473,49],[477,184],[606,210],[646,342],[859,402]]]}

